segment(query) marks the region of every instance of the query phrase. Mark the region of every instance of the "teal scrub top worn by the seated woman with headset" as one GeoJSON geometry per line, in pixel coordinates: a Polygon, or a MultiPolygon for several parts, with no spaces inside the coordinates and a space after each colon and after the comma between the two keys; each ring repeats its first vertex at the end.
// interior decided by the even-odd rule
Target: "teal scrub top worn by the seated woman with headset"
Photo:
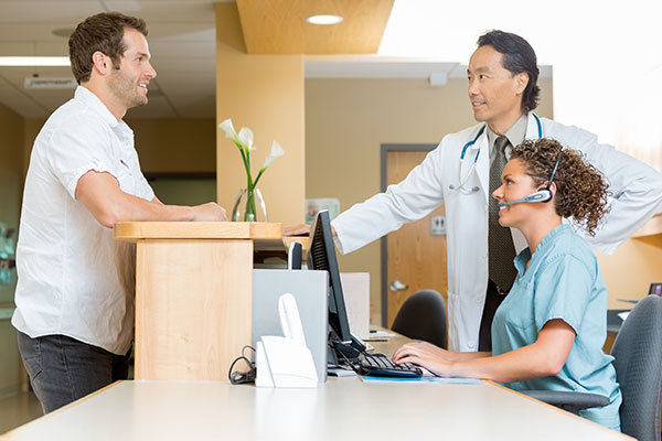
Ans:
{"type": "Polygon", "coordinates": [[[566,322],[577,335],[558,375],[505,386],[514,390],[566,390],[609,397],[608,406],[586,409],[580,415],[620,430],[621,394],[613,357],[602,353],[607,288],[588,244],[568,225],[560,225],[545,236],[533,256],[526,248],[514,261],[517,277],[492,322],[492,355],[535,343],[538,332],[553,319],[566,322]]]}

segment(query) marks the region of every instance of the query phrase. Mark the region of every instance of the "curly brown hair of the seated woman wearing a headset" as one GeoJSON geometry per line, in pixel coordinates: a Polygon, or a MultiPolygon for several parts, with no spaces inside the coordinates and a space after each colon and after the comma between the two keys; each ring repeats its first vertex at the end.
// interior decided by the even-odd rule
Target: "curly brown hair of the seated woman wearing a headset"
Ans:
{"type": "Polygon", "coordinates": [[[581,152],[563,149],[558,141],[543,138],[526,140],[515,147],[511,160],[522,161],[534,184],[543,185],[549,179],[559,154],[562,157],[554,176],[556,213],[595,236],[598,224],[609,213],[609,185],[602,174],[584,160],[581,152]]]}

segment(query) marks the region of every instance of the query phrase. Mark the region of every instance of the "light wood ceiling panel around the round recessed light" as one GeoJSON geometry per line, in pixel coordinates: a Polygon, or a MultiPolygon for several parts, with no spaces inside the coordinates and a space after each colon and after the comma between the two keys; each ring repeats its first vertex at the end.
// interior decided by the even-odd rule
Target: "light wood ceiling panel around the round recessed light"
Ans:
{"type": "Polygon", "coordinates": [[[248,54],[376,53],[393,0],[237,0],[248,54]],[[316,14],[343,21],[310,24],[316,14]]]}

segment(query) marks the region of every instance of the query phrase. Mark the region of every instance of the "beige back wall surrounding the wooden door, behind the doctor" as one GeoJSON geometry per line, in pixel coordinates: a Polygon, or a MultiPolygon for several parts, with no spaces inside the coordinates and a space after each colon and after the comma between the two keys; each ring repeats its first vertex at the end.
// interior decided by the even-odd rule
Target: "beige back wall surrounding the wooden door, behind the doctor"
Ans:
{"type": "MultiPolygon", "coordinates": [[[[536,112],[551,117],[552,80],[542,79],[536,112]]],[[[307,79],[306,197],[338,197],[341,211],[381,191],[382,143],[438,143],[474,125],[467,80],[307,79]]],[[[371,321],[381,320],[380,241],[340,258],[343,271],[369,271],[371,321]]]]}

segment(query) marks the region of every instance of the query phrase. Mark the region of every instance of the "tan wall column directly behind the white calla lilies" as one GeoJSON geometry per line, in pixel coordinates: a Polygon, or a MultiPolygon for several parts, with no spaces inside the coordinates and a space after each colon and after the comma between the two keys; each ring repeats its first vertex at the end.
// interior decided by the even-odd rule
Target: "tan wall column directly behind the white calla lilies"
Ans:
{"type": "MultiPolygon", "coordinates": [[[[303,220],[303,58],[301,55],[246,55],[236,3],[216,3],[216,119],[249,127],[257,151],[254,176],[276,140],[285,157],[267,170],[258,187],[270,222],[303,220]]],[[[217,131],[217,198],[232,208],[246,175],[239,152],[217,131]]]]}

